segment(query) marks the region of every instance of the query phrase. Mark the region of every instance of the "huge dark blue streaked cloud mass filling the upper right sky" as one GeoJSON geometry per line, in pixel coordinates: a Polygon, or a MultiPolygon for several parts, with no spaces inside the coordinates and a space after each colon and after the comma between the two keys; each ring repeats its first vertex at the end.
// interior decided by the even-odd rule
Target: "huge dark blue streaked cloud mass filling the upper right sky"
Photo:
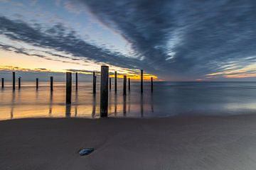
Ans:
{"type": "Polygon", "coordinates": [[[255,63],[254,0],[79,0],[132,43],[156,73],[204,77],[255,63]],[[173,57],[173,59],[170,59],[173,57]]]}

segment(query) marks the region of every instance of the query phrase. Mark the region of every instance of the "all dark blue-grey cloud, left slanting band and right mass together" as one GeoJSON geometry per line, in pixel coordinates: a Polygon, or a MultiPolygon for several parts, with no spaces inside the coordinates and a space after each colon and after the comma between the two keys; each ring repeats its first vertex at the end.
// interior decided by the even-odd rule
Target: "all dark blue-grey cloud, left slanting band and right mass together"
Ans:
{"type": "MultiPolygon", "coordinates": [[[[208,77],[207,74],[234,71],[256,63],[256,1],[253,0],[74,0],[72,3],[85,4],[99,21],[122,35],[137,52],[137,59],[96,47],[60,23],[43,30],[40,25],[29,26],[0,17],[0,33],[12,40],[71,54],[74,61],[93,60],[129,69],[142,68],[166,79],[201,79],[208,77]]],[[[250,74],[252,70],[242,72],[250,74]]]]}

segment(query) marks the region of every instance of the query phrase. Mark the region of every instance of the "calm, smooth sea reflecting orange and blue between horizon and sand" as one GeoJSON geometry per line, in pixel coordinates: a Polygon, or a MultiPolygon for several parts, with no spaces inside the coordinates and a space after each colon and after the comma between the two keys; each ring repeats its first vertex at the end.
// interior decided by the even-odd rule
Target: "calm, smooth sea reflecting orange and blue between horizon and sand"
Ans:
{"type": "MultiPolygon", "coordinates": [[[[113,83],[113,82],[112,82],[113,83]]],[[[256,113],[256,82],[155,82],[151,94],[149,83],[132,82],[131,91],[109,94],[109,115],[118,117],[165,117],[170,115],[233,115],[256,113]]],[[[55,83],[50,94],[48,83],[23,83],[12,91],[6,84],[0,91],[0,120],[12,118],[82,117],[98,118],[100,84],[92,94],[91,83],[80,83],[73,89],[72,105],[65,106],[65,84],[55,83]]]]}

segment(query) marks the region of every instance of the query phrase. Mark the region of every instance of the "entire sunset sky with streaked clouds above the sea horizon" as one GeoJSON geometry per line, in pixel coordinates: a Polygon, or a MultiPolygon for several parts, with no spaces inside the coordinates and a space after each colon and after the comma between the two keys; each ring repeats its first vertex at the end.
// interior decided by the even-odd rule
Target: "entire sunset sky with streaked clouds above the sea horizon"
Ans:
{"type": "Polygon", "coordinates": [[[86,78],[109,65],[120,78],[144,69],[158,81],[256,81],[255,8],[254,0],[0,0],[0,77],[86,78]]]}

